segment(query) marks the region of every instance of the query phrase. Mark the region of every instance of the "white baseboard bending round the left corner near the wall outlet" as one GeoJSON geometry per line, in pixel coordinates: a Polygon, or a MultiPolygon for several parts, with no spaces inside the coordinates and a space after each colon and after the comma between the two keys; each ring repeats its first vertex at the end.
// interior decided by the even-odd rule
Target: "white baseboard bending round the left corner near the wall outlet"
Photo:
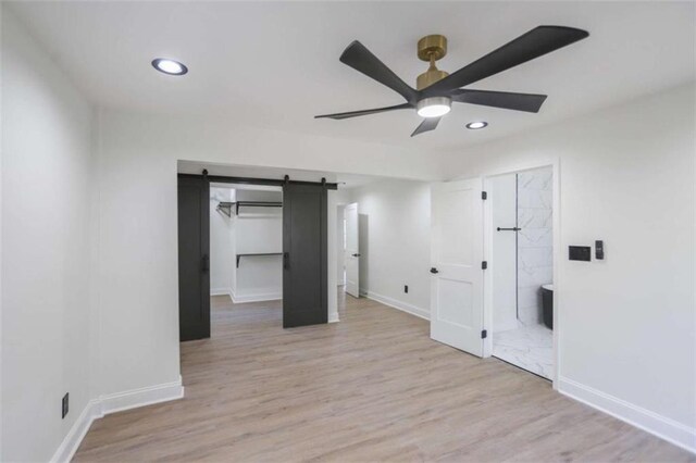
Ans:
{"type": "Polygon", "coordinates": [[[177,400],[183,397],[184,386],[182,386],[182,378],[179,376],[177,381],[110,393],[101,396],[98,399],[92,399],[87,402],[79,417],[75,421],[75,424],[58,450],[55,450],[55,453],[53,453],[51,462],[70,462],[95,420],[101,418],[110,413],[152,405],[153,403],[169,402],[170,400],[177,400]]]}

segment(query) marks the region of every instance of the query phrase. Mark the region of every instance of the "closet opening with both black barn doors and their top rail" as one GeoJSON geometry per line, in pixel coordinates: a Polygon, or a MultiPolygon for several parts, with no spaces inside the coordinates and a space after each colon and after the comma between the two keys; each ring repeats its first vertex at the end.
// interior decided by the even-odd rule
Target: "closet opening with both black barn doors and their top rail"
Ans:
{"type": "Polygon", "coordinates": [[[319,178],[178,174],[181,341],[210,338],[233,315],[284,328],[328,322],[337,185],[319,178]]]}

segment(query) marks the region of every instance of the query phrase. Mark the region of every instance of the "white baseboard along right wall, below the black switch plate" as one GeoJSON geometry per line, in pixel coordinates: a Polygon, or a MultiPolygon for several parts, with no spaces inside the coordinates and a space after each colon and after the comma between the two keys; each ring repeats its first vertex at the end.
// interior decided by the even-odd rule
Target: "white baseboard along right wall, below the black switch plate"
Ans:
{"type": "Polygon", "coordinates": [[[558,379],[558,391],[684,450],[696,453],[695,428],[564,377],[558,379]]]}

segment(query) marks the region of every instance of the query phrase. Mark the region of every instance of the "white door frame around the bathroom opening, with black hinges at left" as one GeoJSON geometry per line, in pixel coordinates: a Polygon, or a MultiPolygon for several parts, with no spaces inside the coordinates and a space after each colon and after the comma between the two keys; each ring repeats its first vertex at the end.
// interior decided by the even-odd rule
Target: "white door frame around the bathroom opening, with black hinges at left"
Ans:
{"type": "MultiPolygon", "coordinates": [[[[561,303],[560,293],[562,290],[562,283],[559,278],[559,264],[561,260],[561,178],[560,178],[560,158],[554,158],[546,162],[532,162],[520,164],[513,168],[504,168],[504,170],[495,170],[492,172],[485,172],[482,174],[483,176],[483,189],[484,191],[490,190],[490,182],[493,177],[497,177],[500,175],[509,175],[509,174],[518,174],[520,172],[533,171],[535,168],[540,167],[551,167],[554,172],[554,180],[552,180],[552,205],[551,211],[554,215],[552,224],[554,224],[554,233],[552,233],[552,260],[554,260],[554,379],[551,380],[551,385],[554,389],[558,389],[559,377],[560,377],[560,336],[562,330],[562,323],[560,323],[560,311],[561,303]]],[[[484,260],[488,261],[493,256],[493,211],[490,208],[490,202],[484,201],[483,204],[484,210],[484,234],[483,234],[483,246],[484,246],[484,260]]],[[[483,276],[483,320],[484,326],[488,329],[489,336],[484,339],[483,343],[483,356],[488,358],[493,354],[493,337],[495,334],[493,333],[493,278],[490,274],[484,272],[483,276]]]]}

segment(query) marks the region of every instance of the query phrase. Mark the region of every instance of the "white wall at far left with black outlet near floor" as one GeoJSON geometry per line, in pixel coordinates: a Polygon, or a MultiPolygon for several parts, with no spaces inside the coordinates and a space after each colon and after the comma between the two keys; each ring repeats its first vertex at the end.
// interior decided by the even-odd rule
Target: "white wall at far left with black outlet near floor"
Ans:
{"type": "Polygon", "coordinates": [[[90,399],[92,113],[4,9],[2,97],[0,460],[48,461],[90,399]]]}

